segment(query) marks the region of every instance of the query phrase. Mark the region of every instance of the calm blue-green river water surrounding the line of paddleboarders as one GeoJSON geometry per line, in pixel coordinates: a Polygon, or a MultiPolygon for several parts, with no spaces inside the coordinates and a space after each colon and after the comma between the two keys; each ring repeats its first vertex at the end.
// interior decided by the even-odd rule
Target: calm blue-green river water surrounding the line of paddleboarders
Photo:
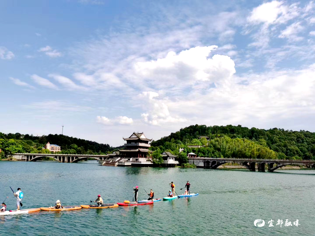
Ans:
{"type": "Polygon", "coordinates": [[[144,189],[150,188],[155,197],[164,197],[171,181],[178,194],[187,180],[199,193],[136,207],[0,216],[0,235],[314,235],[313,170],[112,167],[96,161],[0,161],[0,167],[0,201],[9,196],[9,210],[15,210],[16,201],[9,186],[24,192],[24,209],[54,205],[57,199],[63,205],[88,204],[98,194],[106,203],[131,201],[133,183],[139,186],[139,200],[147,199],[144,189]],[[256,219],[265,226],[255,227],[256,219]],[[268,227],[270,219],[274,227],[268,227]],[[284,226],[286,219],[292,226],[284,226]]]}

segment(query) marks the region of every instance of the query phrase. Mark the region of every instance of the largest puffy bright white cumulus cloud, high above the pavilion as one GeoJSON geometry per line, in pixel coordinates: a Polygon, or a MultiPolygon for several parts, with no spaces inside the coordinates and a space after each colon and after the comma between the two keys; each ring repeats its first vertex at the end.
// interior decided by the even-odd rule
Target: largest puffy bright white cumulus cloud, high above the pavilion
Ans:
{"type": "Polygon", "coordinates": [[[157,88],[192,86],[200,81],[220,82],[220,78],[235,73],[234,62],[228,56],[209,54],[217,46],[195,47],[176,54],[169,52],[165,58],[138,62],[135,73],[149,80],[157,88]]]}

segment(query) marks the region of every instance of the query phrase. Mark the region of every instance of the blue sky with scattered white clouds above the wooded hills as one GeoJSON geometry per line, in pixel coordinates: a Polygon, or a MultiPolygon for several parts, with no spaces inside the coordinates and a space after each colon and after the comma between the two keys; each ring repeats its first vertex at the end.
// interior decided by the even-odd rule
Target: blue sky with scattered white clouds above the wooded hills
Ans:
{"type": "Polygon", "coordinates": [[[312,1],[11,0],[0,17],[1,132],[315,132],[312,1]]]}

